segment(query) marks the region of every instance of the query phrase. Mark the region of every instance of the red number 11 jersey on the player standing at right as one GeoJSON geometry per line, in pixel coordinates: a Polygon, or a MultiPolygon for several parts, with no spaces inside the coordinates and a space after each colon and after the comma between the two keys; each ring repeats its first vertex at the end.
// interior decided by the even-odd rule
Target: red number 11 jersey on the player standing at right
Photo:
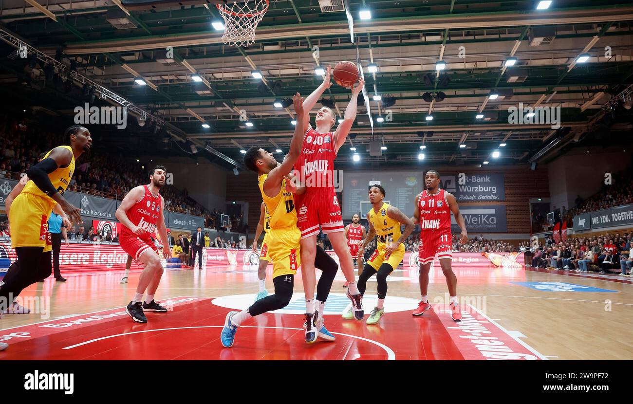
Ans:
{"type": "Polygon", "coordinates": [[[448,207],[446,191],[440,189],[435,195],[422,191],[418,201],[420,209],[420,239],[433,234],[439,237],[451,233],[451,210],[448,207]]]}

